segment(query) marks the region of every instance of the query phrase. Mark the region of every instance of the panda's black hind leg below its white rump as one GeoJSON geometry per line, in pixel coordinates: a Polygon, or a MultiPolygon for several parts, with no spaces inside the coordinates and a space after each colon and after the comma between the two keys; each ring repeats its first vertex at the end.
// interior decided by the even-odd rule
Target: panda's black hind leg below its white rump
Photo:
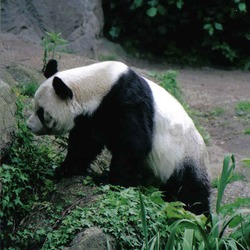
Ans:
{"type": "Polygon", "coordinates": [[[197,172],[195,165],[189,161],[181,170],[174,172],[161,190],[168,202],[181,201],[186,210],[197,215],[208,216],[210,213],[210,177],[205,171],[197,172]]]}

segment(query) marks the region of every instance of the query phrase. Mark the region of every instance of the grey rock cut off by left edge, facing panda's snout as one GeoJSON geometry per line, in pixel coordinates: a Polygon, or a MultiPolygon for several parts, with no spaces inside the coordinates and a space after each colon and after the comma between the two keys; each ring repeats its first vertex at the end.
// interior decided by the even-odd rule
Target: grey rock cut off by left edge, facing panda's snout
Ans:
{"type": "Polygon", "coordinates": [[[0,80],[0,165],[15,131],[15,95],[9,85],[0,80]]]}

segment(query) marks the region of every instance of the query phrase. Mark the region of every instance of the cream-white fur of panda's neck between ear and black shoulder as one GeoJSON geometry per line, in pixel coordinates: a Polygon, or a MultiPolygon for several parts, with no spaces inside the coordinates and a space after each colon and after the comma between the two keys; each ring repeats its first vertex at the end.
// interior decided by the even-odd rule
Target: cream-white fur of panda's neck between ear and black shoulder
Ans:
{"type": "Polygon", "coordinates": [[[100,105],[119,76],[127,70],[128,66],[120,62],[101,62],[62,71],[56,76],[73,91],[76,101],[81,106],[77,115],[79,112],[90,115],[100,105]]]}

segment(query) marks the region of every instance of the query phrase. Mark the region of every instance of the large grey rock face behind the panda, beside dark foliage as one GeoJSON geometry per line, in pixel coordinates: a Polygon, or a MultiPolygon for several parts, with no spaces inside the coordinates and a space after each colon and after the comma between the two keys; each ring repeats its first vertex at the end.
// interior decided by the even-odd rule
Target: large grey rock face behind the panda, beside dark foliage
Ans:
{"type": "Polygon", "coordinates": [[[1,5],[2,31],[33,42],[41,42],[44,31],[61,32],[69,49],[94,56],[103,28],[101,0],[8,0],[1,5]]]}

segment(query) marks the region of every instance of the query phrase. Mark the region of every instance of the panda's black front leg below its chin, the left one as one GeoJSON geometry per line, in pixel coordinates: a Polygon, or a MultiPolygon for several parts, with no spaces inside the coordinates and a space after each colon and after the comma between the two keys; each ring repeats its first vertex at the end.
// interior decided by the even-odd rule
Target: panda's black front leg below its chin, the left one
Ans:
{"type": "Polygon", "coordinates": [[[88,126],[75,126],[69,133],[68,152],[64,162],[56,169],[55,178],[85,175],[87,168],[104,147],[88,126]]]}

